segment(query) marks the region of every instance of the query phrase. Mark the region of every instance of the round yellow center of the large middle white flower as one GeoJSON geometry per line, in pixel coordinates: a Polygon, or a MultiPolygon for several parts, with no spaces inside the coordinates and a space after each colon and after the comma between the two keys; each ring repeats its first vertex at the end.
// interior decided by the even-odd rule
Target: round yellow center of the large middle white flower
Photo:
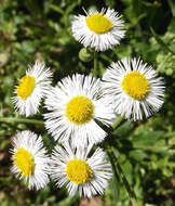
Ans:
{"type": "Polygon", "coordinates": [[[78,95],[67,103],[65,112],[71,123],[83,125],[93,118],[94,105],[89,98],[78,95]]]}

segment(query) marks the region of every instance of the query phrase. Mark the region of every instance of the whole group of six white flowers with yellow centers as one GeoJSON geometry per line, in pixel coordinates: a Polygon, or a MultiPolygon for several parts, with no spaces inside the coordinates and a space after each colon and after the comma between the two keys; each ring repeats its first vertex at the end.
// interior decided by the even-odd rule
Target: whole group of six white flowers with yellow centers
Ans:
{"type": "MultiPolygon", "coordinates": [[[[86,12],[72,22],[72,35],[96,51],[111,49],[124,37],[121,16],[111,9],[86,12]]],[[[75,74],[51,86],[52,72],[40,62],[19,79],[12,99],[21,115],[39,112],[44,100],[44,125],[60,145],[49,155],[41,136],[25,130],[16,134],[11,149],[12,171],[28,188],[44,188],[50,178],[58,188],[66,184],[70,195],[103,194],[112,176],[105,152],[93,145],[107,137],[117,114],[140,120],[163,104],[164,85],[156,70],[140,59],[112,63],[102,79],[75,74]],[[90,155],[91,154],[91,155],[90,155]]]]}

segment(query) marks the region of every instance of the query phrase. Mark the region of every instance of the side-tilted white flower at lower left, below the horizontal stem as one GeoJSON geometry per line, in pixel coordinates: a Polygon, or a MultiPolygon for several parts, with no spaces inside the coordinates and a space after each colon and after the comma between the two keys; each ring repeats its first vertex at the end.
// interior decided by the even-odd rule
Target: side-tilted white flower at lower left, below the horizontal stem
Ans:
{"type": "Polygon", "coordinates": [[[42,138],[25,130],[12,141],[12,172],[28,183],[29,190],[44,188],[49,183],[49,157],[42,138]]]}

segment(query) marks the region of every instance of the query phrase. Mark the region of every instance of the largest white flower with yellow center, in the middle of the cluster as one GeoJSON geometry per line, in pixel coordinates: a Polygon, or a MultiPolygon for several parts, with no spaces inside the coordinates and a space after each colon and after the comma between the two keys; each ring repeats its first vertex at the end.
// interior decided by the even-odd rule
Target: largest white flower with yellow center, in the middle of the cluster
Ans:
{"type": "Polygon", "coordinates": [[[55,140],[65,142],[71,137],[73,145],[104,140],[107,133],[95,120],[108,126],[116,116],[99,85],[100,80],[91,75],[76,74],[48,92],[45,107],[51,113],[44,114],[45,127],[55,140]]]}

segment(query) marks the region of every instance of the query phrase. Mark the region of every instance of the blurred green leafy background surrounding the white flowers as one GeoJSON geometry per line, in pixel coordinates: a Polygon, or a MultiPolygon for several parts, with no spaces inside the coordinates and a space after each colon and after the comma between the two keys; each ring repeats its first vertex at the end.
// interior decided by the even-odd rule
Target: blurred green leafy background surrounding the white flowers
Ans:
{"type": "MultiPolygon", "coordinates": [[[[73,73],[89,74],[93,62],[79,60],[82,46],[71,35],[73,15],[91,7],[122,14],[126,35],[117,48],[98,53],[98,76],[123,56],[142,56],[166,86],[161,111],[144,121],[125,121],[116,129],[119,162],[136,193],[138,206],[175,205],[175,1],[174,0],[0,0],[0,206],[132,206],[122,182],[112,179],[105,195],[92,201],[68,197],[51,182],[36,192],[10,171],[13,136],[30,129],[52,140],[42,125],[17,123],[11,98],[28,65],[41,60],[54,72],[55,85],[73,73]],[[4,123],[4,117],[14,120],[4,123]]],[[[41,112],[44,112],[41,110],[41,112]]],[[[42,119],[40,114],[32,116],[42,119]]]]}

